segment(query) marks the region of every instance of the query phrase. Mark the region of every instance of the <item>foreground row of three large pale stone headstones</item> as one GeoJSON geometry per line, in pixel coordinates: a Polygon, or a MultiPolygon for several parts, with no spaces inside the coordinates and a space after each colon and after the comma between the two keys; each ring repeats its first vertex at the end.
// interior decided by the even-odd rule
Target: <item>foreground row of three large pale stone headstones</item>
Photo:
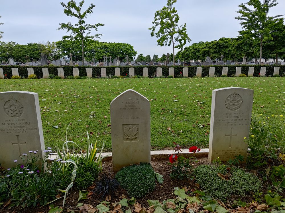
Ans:
{"type": "MultiPolygon", "coordinates": [[[[212,92],[209,160],[247,156],[253,90],[229,87],[212,92]]],[[[44,139],[38,94],[0,93],[0,163],[16,166],[21,156],[34,151],[43,157],[44,139]],[[14,162],[15,163],[14,163],[14,162]]],[[[128,89],[110,104],[113,170],[150,162],[150,102],[128,89]],[[123,153],[123,154],[122,154],[123,153]]]]}

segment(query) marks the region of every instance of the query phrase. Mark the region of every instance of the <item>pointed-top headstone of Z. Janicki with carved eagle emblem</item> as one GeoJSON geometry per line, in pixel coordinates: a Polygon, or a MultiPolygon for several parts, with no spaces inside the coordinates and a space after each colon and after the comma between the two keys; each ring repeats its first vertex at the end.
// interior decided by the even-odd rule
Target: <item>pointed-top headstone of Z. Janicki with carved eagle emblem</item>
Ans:
{"type": "Polygon", "coordinates": [[[128,89],[110,104],[113,170],[150,162],[150,103],[128,89]]]}

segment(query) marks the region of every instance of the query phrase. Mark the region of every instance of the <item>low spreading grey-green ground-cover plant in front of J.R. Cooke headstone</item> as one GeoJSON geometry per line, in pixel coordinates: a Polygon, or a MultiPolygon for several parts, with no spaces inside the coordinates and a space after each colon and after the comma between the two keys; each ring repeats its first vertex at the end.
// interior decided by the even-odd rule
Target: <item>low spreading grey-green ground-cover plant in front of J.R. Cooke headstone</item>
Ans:
{"type": "Polygon", "coordinates": [[[231,167],[227,171],[227,166],[223,165],[200,165],[195,168],[194,175],[201,189],[221,201],[226,201],[231,196],[254,195],[261,187],[257,176],[237,167],[231,167]],[[225,176],[227,180],[220,178],[218,173],[221,176],[228,175],[225,176]]]}

